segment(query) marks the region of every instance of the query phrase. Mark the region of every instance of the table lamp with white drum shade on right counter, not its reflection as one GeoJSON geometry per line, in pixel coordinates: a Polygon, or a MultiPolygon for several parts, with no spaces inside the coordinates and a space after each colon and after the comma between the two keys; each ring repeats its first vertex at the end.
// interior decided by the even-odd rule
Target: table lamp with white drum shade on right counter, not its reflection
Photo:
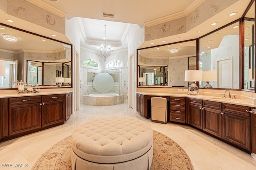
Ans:
{"type": "Polygon", "coordinates": [[[196,82],[202,81],[202,76],[202,70],[185,70],[185,81],[192,82],[188,87],[188,94],[198,95],[198,86],[196,86],[196,82]]]}

